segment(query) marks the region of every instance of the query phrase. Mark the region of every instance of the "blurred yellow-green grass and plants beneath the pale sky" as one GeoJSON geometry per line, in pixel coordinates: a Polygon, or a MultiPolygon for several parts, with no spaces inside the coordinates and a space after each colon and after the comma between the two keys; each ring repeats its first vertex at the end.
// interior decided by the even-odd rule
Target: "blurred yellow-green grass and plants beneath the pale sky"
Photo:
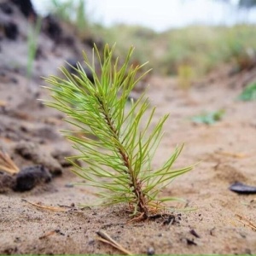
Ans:
{"type": "Polygon", "coordinates": [[[86,13],[86,1],[51,0],[51,9],[62,20],[77,27],[79,36],[90,36],[112,45],[116,54],[125,55],[135,46],[133,62],[142,64],[150,60],[154,73],[178,75],[181,87],[188,87],[191,79],[201,77],[225,63],[240,71],[255,59],[256,26],[188,26],[154,32],[143,26],[115,25],[104,27],[93,24],[86,13]],[[73,15],[71,15],[73,14],[73,15]],[[250,54],[248,55],[248,52],[250,54]]]}

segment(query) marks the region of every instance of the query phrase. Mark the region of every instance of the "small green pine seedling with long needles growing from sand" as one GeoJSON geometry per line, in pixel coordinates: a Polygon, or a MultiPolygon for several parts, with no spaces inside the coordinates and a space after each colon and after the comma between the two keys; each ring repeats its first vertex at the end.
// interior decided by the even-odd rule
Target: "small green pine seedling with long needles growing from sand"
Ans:
{"type": "Polygon", "coordinates": [[[99,204],[127,203],[132,216],[149,218],[153,212],[166,209],[166,202],[173,200],[160,198],[162,189],[192,166],[172,169],[183,148],[178,146],[163,166],[153,170],[152,160],[168,115],[152,127],[155,108],[150,109],[144,94],[136,102],[127,103],[131,90],[148,72],[137,78],[143,65],[130,65],[133,48],[122,65],[118,58],[114,60],[113,49],[107,44],[101,57],[95,46],[92,64],[84,53],[94,83],[80,64],[75,68],[76,75],[62,67],[65,79],[46,79],[53,85],[48,89],[55,99],[47,104],[65,113],[65,120],[76,126],[77,131],[63,131],[79,151],[79,155],[68,159],[75,166],[73,172],[87,181],[85,185],[99,189],[99,204]],[[96,73],[96,59],[100,74],[96,73]],[[83,136],[76,136],[78,132],[83,136]],[[78,166],[77,160],[85,165],[78,166]]]}

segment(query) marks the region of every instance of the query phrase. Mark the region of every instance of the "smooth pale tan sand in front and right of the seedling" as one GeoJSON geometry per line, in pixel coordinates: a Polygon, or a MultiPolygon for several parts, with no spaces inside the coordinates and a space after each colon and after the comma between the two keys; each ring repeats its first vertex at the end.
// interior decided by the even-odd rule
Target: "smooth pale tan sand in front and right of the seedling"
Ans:
{"type": "MultiPolygon", "coordinates": [[[[236,195],[228,189],[236,181],[256,183],[255,102],[236,102],[238,93],[239,90],[217,82],[193,88],[185,95],[176,89],[172,79],[154,77],[150,81],[148,96],[152,105],[158,107],[155,119],[162,113],[171,113],[154,165],[158,166],[177,143],[185,143],[177,166],[200,163],[192,172],[177,178],[164,194],[182,197],[194,211],[184,212],[183,205],[178,204],[181,209],[176,214],[180,212],[181,219],[177,217],[174,224],[164,225],[160,219],[127,223],[124,206],[78,210],[79,203],[88,203],[95,197],[88,189],[70,187],[69,183],[78,178],[65,169],[52,183],[30,192],[8,191],[0,195],[0,253],[119,253],[96,240],[98,230],[106,230],[132,253],[147,253],[152,247],[155,253],[256,253],[255,232],[235,217],[237,213],[255,219],[255,195],[236,195]],[[226,113],[215,125],[193,125],[189,120],[195,113],[216,108],[224,108],[226,113]],[[74,204],[74,207],[68,212],[52,212],[22,199],[48,206],[74,204]],[[41,238],[54,230],[59,231],[41,238]],[[193,236],[191,230],[200,237],[193,236]]],[[[43,108],[43,112],[54,119],[51,109],[43,108]]],[[[33,134],[42,123],[33,113],[26,114],[26,120],[15,119],[9,127],[29,127],[27,137],[35,141],[33,134]]],[[[5,118],[14,119],[8,115],[5,118]]],[[[51,152],[63,147],[71,150],[69,143],[57,135],[61,125],[61,121],[50,124],[50,132],[40,148],[49,148],[51,152]],[[49,137],[50,133],[56,135],[54,139],[49,137]]],[[[3,137],[1,141],[6,146],[15,144],[3,137]]],[[[13,157],[18,166],[27,165],[15,154],[13,157]]]]}

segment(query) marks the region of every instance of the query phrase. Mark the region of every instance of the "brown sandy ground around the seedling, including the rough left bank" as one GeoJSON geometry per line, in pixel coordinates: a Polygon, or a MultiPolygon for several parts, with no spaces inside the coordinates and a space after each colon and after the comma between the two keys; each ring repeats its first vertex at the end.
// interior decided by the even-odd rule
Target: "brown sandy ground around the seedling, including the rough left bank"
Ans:
{"type": "Polygon", "coordinates": [[[154,121],[170,113],[154,166],[159,166],[180,143],[185,143],[185,148],[177,166],[198,164],[163,191],[164,195],[186,201],[174,203],[177,207],[174,224],[163,224],[160,218],[131,223],[122,205],[79,208],[79,203],[96,200],[94,190],[71,185],[80,179],[70,172],[63,155],[73,154],[73,148],[58,132],[67,125],[62,122],[61,113],[37,100],[48,97],[47,91],[38,86],[44,83],[38,78],[55,73],[57,65],[71,55],[70,49],[60,46],[59,54],[54,55],[53,43],[42,36],[40,42],[44,42],[42,49],[47,60],[36,61],[37,71],[28,83],[22,68],[17,73],[11,67],[14,62],[7,61],[12,56],[21,66],[22,58],[15,59],[11,51],[13,47],[16,55],[19,50],[24,51],[24,39],[18,40],[19,44],[8,39],[1,42],[0,57],[4,62],[0,73],[0,102],[5,106],[0,107],[0,143],[20,168],[42,164],[54,175],[60,172],[62,175],[24,193],[2,185],[0,253],[119,253],[97,241],[98,230],[105,230],[137,254],[256,253],[255,232],[239,223],[235,216],[240,214],[255,223],[255,195],[236,195],[228,189],[236,181],[256,184],[256,103],[236,101],[241,88],[230,86],[234,77],[230,79],[218,73],[211,83],[206,79],[187,92],[177,87],[175,79],[154,76],[149,80],[148,97],[151,105],[157,107],[154,121]],[[203,110],[219,108],[225,109],[224,119],[214,125],[194,125],[189,119],[203,110]],[[32,154],[27,157],[19,148],[23,148],[22,152],[31,150],[32,154]],[[27,201],[67,206],[69,211],[53,212],[27,201]],[[193,210],[185,211],[184,206],[193,210]]]}

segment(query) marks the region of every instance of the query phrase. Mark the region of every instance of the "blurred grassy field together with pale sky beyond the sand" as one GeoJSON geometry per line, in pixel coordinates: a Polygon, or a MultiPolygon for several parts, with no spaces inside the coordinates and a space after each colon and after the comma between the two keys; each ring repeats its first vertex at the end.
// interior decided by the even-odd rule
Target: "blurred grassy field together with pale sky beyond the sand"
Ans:
{"type": "Polygon", "coordinates": [[[32,0],[40,15],[73,24],[81,38],[117,43],[154,73],[201,77],[224,63],[251,65],[256,48],[253,0],[32,0]],[[250,62],[250,63],[247,63],[250,62]]]}

